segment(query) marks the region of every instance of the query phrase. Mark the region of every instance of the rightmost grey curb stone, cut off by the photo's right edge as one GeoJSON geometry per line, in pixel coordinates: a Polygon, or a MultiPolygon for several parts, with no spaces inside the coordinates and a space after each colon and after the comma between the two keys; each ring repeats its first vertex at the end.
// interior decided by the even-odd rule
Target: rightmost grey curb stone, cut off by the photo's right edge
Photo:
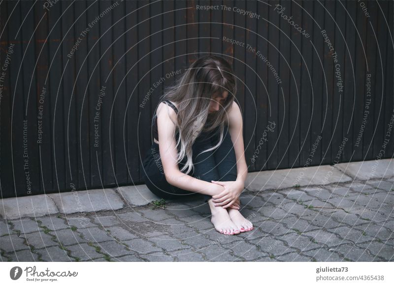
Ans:
{"type": "Polygon", "coordinates": [[[393,176],[394,160],[382,159],[336,164],[335,167],[358,180],[381,179],[393,176]]]}

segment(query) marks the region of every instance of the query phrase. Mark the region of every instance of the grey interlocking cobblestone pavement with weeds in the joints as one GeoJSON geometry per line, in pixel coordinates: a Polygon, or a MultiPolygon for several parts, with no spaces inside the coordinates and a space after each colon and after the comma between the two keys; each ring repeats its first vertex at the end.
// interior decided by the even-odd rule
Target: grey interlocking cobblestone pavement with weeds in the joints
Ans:
{"type": "Polygon", "coordinates": [[[223,235],[207,204],[0,221],[2,261],[393,261],[393,178],[241,195],[255,229],[223,235]]]}

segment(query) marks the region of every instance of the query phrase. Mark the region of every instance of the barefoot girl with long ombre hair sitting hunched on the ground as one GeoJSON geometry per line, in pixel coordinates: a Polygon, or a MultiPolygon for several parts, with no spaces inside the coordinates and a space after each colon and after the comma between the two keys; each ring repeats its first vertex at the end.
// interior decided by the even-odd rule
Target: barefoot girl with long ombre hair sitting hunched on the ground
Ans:
{"type": "Polygon", "coordinates": [[[152,120],[154,142],[143,162],[152,193],[163,199],[202,194],[212,224],[224,234],[253,229],[239,212],[248,169],[236,89],[225,59],[198,58],[166,88],[152,120]]]}

